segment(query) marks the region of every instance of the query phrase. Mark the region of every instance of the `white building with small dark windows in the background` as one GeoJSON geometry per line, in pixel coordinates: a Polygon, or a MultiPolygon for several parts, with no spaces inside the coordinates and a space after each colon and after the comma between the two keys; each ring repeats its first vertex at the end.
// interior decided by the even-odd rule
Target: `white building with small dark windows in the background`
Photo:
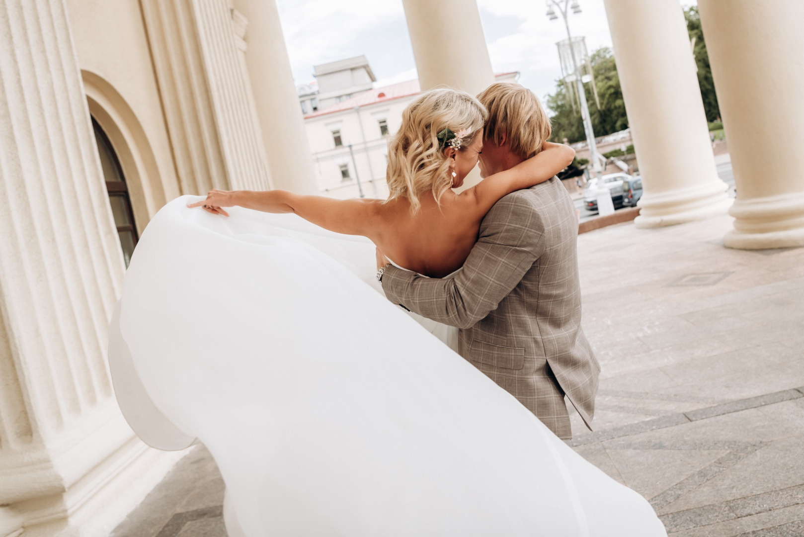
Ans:
{"type": "MultiPolygon", "coordinates": [[[[347,64],[352,60],[356,59],[326,65],[347,64]]],[[[318,66],[316,72],[319,67],[322,66],[318,66]]],[[[355,69],[348,68],[348,71],[355,72],[355,69]]],[[[367,72],[371,73],[371,69],[368,68],[367,72]]],[[[498,82],[516,81],[518,76],[519,72],[505,72],[495,75],[495,79],[498,82]]],[[[346,79],[345,76],[342,78],[346,79]]],[[[340,91],[346,94],[344,89],[340,91]]],[[[400,82],[363,90],[337,104],[306,114],[307,138],[313,151],[319,191],[341,199],[359,196],[386,198],[387,137],[399,128],[402,110],[420,92],[418,80],[400,82]]],[[[322,94],[319,94],[319,100],[323,105],[322,94]]],[[[331,102],[332,97],[328,98],[331,102]]]]}

